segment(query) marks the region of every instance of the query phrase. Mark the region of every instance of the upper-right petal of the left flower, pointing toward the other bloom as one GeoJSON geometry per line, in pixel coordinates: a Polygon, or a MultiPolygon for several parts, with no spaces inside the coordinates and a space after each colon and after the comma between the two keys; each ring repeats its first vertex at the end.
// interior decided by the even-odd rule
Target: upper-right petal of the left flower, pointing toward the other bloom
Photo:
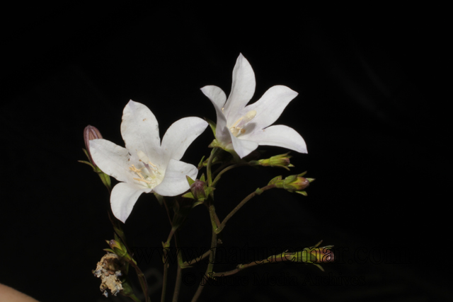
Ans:
{"type": "Polygon", "coordinates": [[[207,122],[199,117],[185,117],[171,124],[162,138],[161,150],[165,156],[164,162],[168,163],[170,158],[179,160],[183,157],[188,146],[205,131],[206,127],[207,122]]]}

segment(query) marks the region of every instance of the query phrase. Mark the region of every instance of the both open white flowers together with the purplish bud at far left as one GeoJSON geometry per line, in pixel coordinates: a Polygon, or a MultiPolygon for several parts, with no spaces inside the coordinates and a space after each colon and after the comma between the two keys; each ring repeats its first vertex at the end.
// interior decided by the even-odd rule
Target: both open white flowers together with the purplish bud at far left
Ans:
{"type": "MultiPolygon", "coordinates": [[[[286,86],[273,86],[256,103],[247,105],[255,86],[253,69],[239,54],[228,98],[217,86],[201,88],[217,112],[215,139],[210,146],[239,158],[260,145],[306,153],[304,139],[294,129],[285,125],[270,126],[297,92],[286,86]]],[[[159,124],[151,110],[130,100],[123,111],[121,124],[125,148],[102,139],[101,134],[91,128],[86,129],[86,145],[93,165],[120,181],[110,195],[117,219],[126,221],[142,193],[176,196],[190,189],[186,176],[195,179],[198,170],[180,158],[206,127],[205,120],[185,117],[173,123],[161,140],[159,124]]]]}

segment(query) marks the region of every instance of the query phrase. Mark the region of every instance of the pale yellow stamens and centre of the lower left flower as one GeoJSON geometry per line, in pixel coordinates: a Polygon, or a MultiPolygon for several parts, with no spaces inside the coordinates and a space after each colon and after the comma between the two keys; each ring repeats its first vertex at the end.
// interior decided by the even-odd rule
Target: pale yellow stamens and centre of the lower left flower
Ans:
{"type": "Polygon", "coordinates": [[[161,183],[164,175],[159,172],[157,165],[149,161],[148,156],[143,151],[138,151],[137,156],[139,157],[139,165],[143,165],[143,167],[137,168],[135,165],[130,165],[129,169],[134,173],[134,176],[137,176],[133,179],[139,184],[153,189],[161,183]]]}

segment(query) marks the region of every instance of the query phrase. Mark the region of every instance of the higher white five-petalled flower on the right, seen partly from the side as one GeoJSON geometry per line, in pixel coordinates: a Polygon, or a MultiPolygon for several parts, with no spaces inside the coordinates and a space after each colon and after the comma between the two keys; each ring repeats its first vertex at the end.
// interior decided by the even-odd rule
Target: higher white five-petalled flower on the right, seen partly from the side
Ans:
{"type": "Polygon", "coordinates": [[[304,139],[294,129],[285,125],[268,127],[280,117],[297,92],[287,86],[273,86],[256,103],[246,106],[255,93],[255,74],[242,54],[234,66],[228,100],[217,86],[205,86],[201,91],[210,98],[217,112],[215,136],[223,149],[234,150],[241,158],[259,145],[307,153],[304,139]]]}

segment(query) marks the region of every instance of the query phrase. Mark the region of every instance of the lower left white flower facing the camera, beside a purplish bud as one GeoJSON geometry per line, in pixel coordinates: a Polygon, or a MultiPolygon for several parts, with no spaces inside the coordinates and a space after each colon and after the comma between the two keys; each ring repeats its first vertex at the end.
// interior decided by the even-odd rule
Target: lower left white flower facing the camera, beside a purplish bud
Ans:
{"type": "Polygon", "coordinates": [[[198,117],[185,117],[168,128],[161,144],[156,117],[147,106],[130,100],[121,123],[126,148],[105,139],[90,141],[93,161],[120,181],[110,196],[117,219],[126,221],[142,193],[176,196],[189,189],[185,176],[195,179],[198,170],[179,160],[206,127],[207,122],[198,117]]]}

